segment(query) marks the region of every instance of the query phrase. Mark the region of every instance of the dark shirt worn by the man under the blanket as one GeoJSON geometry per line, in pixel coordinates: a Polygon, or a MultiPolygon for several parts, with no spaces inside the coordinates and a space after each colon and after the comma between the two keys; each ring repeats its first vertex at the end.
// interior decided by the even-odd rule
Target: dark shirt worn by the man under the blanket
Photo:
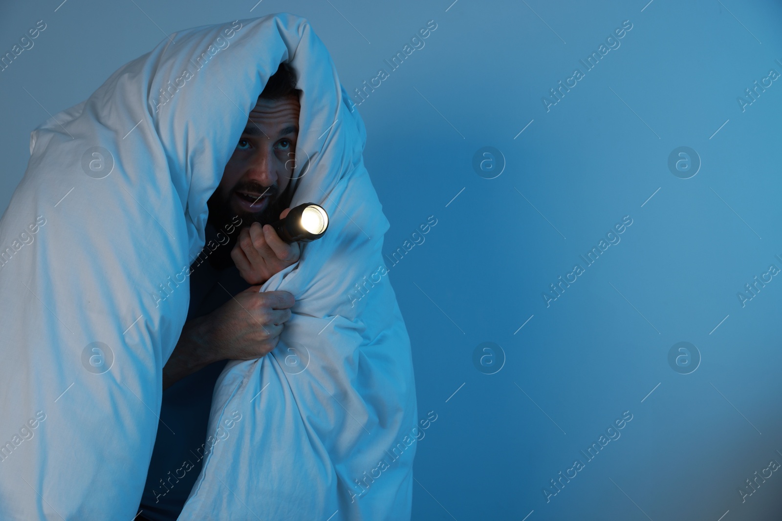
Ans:
{"type": "MultiPolygon", "coordinates": [[[[206,242],[215,234],[215,230],[207,225],[206,242]]],[[[229,248],[229,244],[221,244],[217,248],[229,248]]],[[[216,251],[210,255],[220,253],[226,252],[216,251]]],[[[203,259],[203,254],[201,257],[203,259]]],[[[232,265],[215,269],[208,260],[195,261],[191,269],[186,321],[213,312],[228,302],[232,295],[249,287],[232,265]]],[[[139,505],[142,514],[138,519],[174,521],[179,516],[201,472],[212,391],[226,363],[228,360],[214,362],[163,391],[160,423],[139,505]]]]}

